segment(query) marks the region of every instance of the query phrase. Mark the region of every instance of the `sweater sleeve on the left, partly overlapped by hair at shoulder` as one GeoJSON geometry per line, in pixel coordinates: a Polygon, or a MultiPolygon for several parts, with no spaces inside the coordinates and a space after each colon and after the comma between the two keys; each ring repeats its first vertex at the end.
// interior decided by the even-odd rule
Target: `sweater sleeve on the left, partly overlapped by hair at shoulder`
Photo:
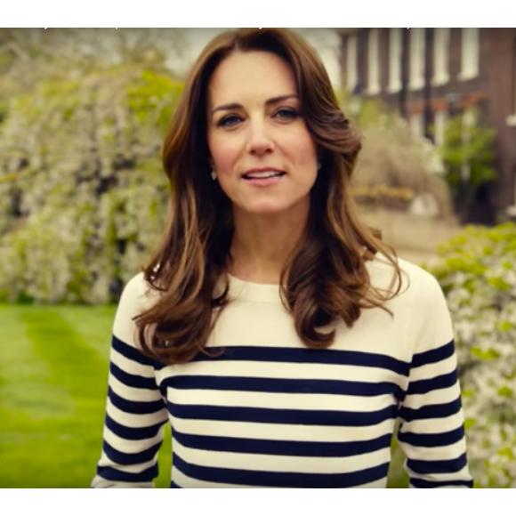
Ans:
{"type": "Polygon", "coordinates": [[[141,311],[144,285],[142,274],[133,278],[118,304],[101,460],[93,489],[155,487],[157,452],[168,414],[155,379],[154,361],[136,348],[133,317],[141,311]]]}

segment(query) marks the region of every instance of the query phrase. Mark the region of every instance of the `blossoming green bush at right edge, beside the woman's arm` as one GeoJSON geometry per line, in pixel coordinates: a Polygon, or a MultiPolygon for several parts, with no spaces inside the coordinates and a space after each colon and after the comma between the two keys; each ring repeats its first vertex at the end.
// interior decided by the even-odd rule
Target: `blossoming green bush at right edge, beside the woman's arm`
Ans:
{"type": "Polygon", "coordinates": [[[432,274],[452,313],[472,471],[516,488],[516,225],[470,227],[439,249],[432,274]]]}

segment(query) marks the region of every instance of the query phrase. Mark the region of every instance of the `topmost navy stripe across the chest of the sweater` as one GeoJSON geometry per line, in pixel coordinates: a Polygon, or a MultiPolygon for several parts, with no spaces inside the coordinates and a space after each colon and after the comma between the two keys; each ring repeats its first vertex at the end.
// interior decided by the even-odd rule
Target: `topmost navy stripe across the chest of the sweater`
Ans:
{"type": "Polygon", "coordinates": [[[387,369],[398,375],[408,375],[410,364],[386,355],[360,351],[285,349],[270,347],[235,346],[209,348],[208,351],[222,351],[219,357],[210,358],[199,355],[194,362],[277,362],[286,364],[321,364],[328,366],[360,366],[387,369]]]}

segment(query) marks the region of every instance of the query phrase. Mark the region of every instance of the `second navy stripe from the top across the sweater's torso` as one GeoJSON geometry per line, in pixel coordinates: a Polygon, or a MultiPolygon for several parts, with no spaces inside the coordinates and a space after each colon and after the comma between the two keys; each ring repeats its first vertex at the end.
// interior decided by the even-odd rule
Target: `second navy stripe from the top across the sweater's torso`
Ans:
{"type": "Polygon", "coordinates": [[[283,394],[335,394],[372,398],[400,395],[399,385],[340,380],[244,378],[239,376],[170,376],[163,383],[173,389],[203,391],[279,392],[283,394]]]}

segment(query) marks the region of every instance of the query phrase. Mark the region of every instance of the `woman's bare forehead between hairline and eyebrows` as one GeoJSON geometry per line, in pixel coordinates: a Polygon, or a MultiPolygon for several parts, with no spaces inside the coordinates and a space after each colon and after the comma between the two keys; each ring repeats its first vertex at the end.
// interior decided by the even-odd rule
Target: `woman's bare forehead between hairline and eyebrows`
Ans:
{"type": "Polygon", "coordinates": [[[271,52],[234,52],[215,69],[208,85],[211,108],[227,102],[266,100],[295,94],[289,65],[271,52]]]}

